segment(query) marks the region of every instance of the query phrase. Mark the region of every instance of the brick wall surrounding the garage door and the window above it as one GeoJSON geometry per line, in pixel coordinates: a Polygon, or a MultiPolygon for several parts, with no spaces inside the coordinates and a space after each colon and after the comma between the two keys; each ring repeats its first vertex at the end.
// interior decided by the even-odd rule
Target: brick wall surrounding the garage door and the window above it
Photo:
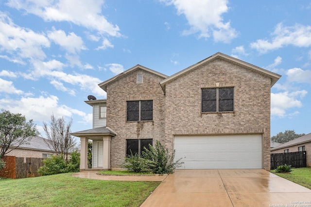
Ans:
{"type": "Polygon", "coordinates": [[[270,78],[220,58],[166,84],[165,138],[173,135],[263,134],[263,168],[270,170],[270,78]],[[201,89],[234,87],[234,112],[201,113],[201,89]]]}

